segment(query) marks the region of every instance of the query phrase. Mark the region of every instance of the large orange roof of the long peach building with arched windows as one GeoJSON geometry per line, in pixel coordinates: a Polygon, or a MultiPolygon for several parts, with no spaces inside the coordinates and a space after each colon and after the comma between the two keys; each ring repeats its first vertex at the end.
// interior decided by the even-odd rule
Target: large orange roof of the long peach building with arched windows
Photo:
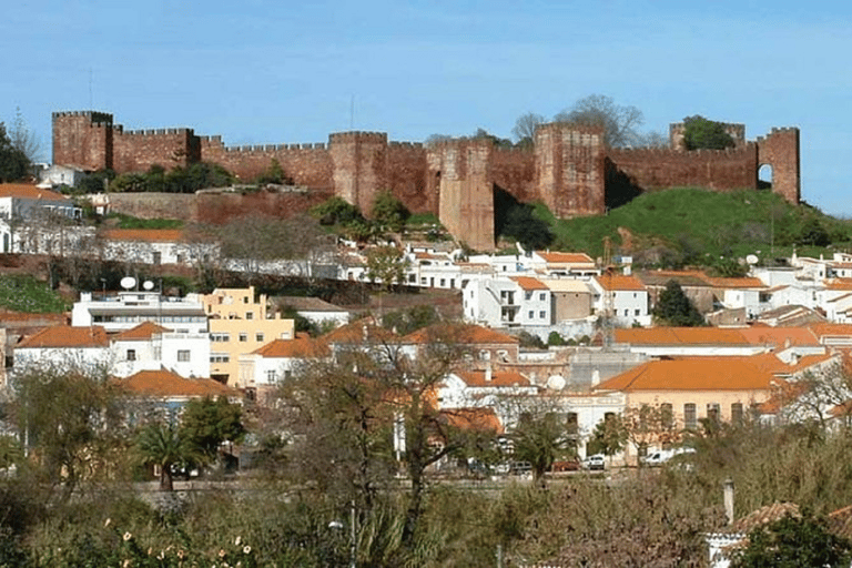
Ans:
{"type": "MultiPolygon", "coordinates": [[[[777,357],[770,354],[772,358],[777,357]]],[[[760,357],[760,356],[755,356],[760,357]]],[[[650,361],[600,383],[599,390],[768,390],[775,379],[755,357],[650,361]]],[[[783,365],[783,362],[779,362],[783,365]]]]}

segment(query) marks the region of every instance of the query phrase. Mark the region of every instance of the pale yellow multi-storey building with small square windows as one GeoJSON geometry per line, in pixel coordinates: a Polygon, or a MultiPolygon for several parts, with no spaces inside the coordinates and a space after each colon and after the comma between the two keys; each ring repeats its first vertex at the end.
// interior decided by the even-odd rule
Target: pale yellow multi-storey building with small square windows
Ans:
{"type": "Polygon", "coordinates": [[[210,318],[210,376],[227,386],[246,386],[240,379],[241,355],[295,337],[295,322],[270,313],[266,296],[256,298],[254,286],[216,288],[202,303],[210,318]]]}

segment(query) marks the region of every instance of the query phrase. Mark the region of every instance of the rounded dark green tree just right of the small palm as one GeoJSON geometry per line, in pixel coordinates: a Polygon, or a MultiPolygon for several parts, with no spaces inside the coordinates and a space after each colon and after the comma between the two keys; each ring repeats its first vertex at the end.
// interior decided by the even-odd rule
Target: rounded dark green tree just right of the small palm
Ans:
{"type": "Polygon", "coordinates": [[[213,462],[222,443],[242,442],[246,433],[242,416],[242,406],[224,396],[196,398],[183,409],[180,434],[199,449],[205,460],[213,462]]]}

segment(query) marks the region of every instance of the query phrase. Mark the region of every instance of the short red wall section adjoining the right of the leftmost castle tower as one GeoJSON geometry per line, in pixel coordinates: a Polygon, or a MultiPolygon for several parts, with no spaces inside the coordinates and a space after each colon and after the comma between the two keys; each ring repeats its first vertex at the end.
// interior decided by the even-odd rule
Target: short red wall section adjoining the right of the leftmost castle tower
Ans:
{"type": "Polygon", "coordinates": [[[152,165],[166,171],[186,168],[201,159],[192,129],[113,129],[113,169],[116,172],[144,172],[152,165]]]}

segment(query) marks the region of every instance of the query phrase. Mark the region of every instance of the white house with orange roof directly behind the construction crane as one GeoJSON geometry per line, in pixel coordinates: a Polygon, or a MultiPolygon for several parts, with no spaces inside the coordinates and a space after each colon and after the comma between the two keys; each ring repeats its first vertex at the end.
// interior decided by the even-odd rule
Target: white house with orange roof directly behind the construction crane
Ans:
{"type": "Polygon", "coordinates": [[[595,296],[595,311],[600,315],[610,314],[619,327],[651,325],[648,291],[635,276],[604,274],[589,282],[595,296]]]}

